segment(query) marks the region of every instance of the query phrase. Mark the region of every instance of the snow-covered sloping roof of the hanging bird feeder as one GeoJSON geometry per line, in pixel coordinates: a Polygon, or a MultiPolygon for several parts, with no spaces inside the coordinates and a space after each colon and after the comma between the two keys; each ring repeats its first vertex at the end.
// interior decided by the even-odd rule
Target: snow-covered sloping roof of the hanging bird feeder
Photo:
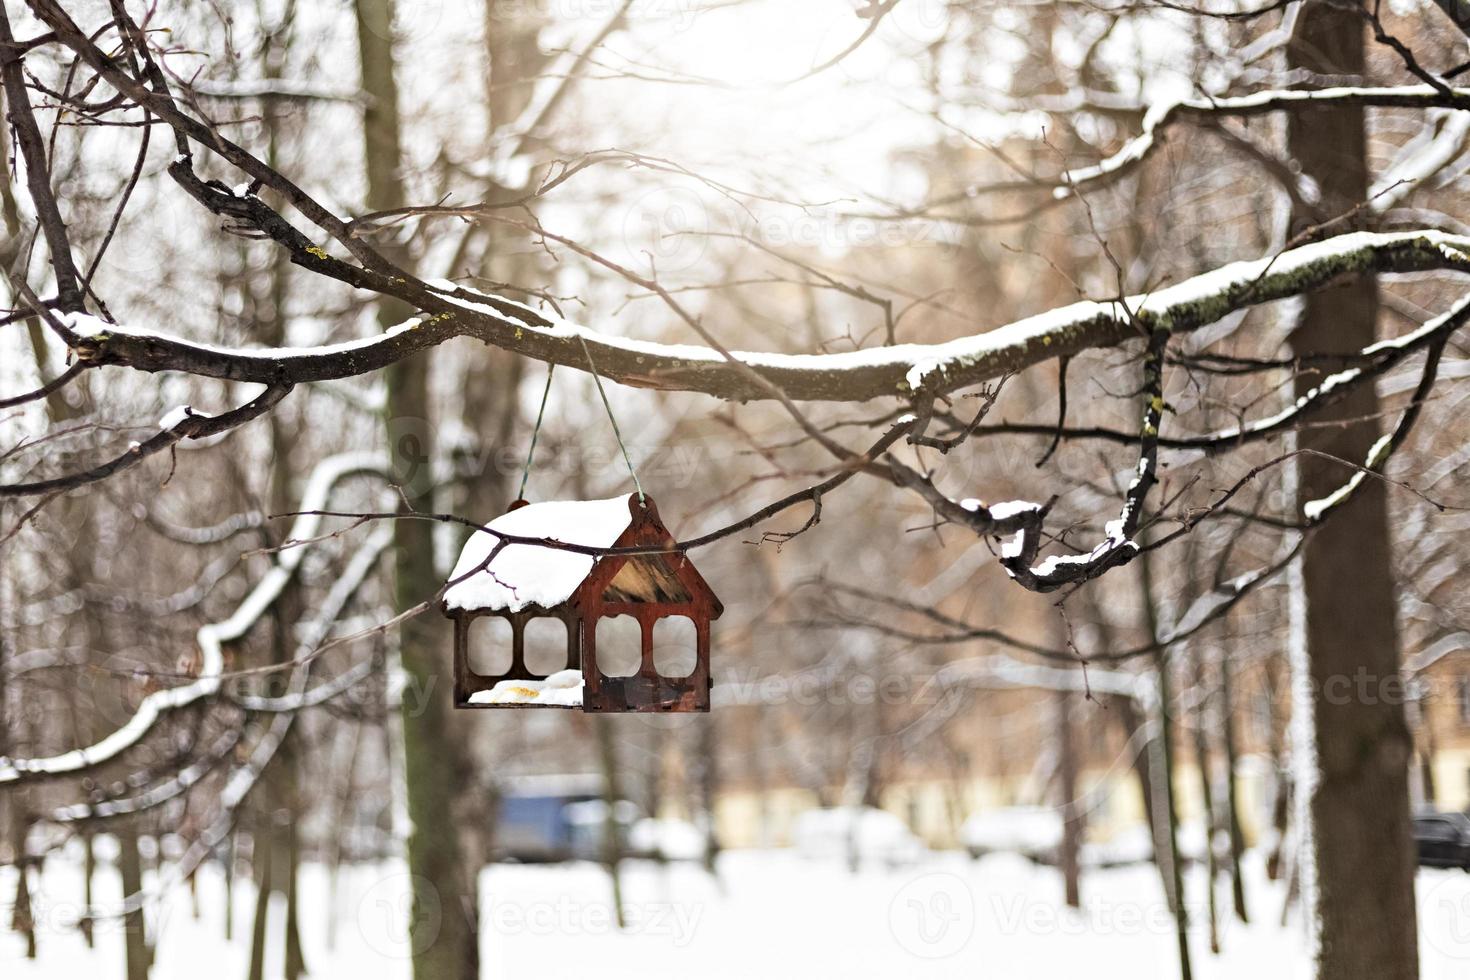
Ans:
{"type": "Polygon", "coordinates": [[[454,564],[444,594],[447,610],[519,613],[528,607],[551,608],[570,599],[597,564],[594,555],[542,545],[506,545],[485,566],[500,538],[544,538],[587,548],[612,548],[632,525],[637,500],[554,500],[526,504],[476,530],[454,564]],[[481,567],[485,566],[485,567],[481,567]],[[475,572],[475,569],[479,569],[475,572]],[[470,574],[473,572],[473,574],[470,574]],[[469,577],[465,577],[469,576],[469,577]],[[463,580],[457,580],[462,579],[463,580]]]}

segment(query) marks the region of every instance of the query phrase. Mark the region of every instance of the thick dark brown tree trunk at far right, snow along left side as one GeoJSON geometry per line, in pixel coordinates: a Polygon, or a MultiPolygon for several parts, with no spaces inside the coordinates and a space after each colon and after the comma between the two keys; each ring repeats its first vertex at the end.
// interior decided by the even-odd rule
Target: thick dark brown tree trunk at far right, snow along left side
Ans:
{"type": "MultiPolygon", "coordinates": [[[[1301,7],[1288,44],[1292,69],[1354,84],[1364,71],[1364,22],[1357,12],[1317,0],[1301,7]],[[1338,78],[1347,76],[1347,81],[1338,78]]],[[[1369,159],[1363,109],[1307,110],[1288,116],[1288,148],[1322,188],[1320,222],[1354,213],[1367,197],[1369,159]]],[[[1298,220],[1298,228],[1301,226],[1298,220]]],[[[1358,350],[1376,339],[1377,287],[1355,279],[1305,297],[1292,334],[1298,351],[1358,350]]],[[[1298,376],[1298,394],[1320,383],[1298,376]]],[[[1363,463],[1379,436],[1379,401],[1361,385],[1319,417],[1358,419],[1301,432],[1299,445],[1363,463]]],[[[1322,458],[1299,464],[1302,501],[1332,494],[1351,470],[1322,458]]],[[[1301,564],[1305,661],[1316,765],[1311,777],[1314,874],[1302,901],[1316,932],[1317,976],[1332,980],[1419,976],[1414,862],[1410,837],[1411,741],[1396,696],[1398,636],[1385,486],[1366,480],[1326,527],[1307,542],[1301,564]]],[[[1299,679],[1301,683],[1304,679],[1299,679]]],[[[1305,688],[1304,688],[1305,689],[1305,688]]],[[[1301,752],[1305,746],[1297,746],[1301,752]]]]}

